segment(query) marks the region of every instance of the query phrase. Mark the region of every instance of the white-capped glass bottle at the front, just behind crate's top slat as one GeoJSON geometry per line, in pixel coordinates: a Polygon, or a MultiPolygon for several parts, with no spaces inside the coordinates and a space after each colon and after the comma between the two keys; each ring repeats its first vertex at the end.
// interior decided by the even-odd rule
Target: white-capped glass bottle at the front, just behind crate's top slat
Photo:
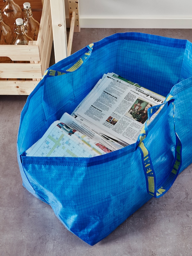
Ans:
{"type": "Polygon", "coordinates": [[[31,37],[27,35],[27,28],[23,24],[23,19],[18,18],[15,20],[16,28],[14,32],[17,34],[16,38],[14,39],[12,44],[28,44],[29,41],[33,41],[31,37]]]}

